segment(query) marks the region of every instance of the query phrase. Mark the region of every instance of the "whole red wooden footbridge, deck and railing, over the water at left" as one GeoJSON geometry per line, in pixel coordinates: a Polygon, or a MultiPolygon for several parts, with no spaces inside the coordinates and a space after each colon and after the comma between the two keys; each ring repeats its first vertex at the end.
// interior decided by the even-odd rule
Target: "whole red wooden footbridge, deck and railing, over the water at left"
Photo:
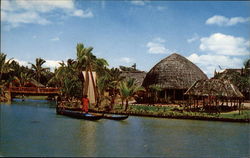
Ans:
{"type": "Polygon", "coordinates": [[[60,88],[10,87],[9,92],[11,93],[11,96],[16,96],[16,95],[55,96],[60,94],[60,88]]]}

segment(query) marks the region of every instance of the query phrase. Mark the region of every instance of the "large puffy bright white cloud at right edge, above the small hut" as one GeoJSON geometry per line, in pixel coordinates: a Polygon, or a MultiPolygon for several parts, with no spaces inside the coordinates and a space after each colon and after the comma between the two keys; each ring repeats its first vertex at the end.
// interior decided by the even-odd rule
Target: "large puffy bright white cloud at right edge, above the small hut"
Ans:
{"type": "Polygon", "coordinates": [[[249,55],[250,41],[242,37],[234,37],[215,33],[200,39],[200,50],[220,55],[249,55]]]}

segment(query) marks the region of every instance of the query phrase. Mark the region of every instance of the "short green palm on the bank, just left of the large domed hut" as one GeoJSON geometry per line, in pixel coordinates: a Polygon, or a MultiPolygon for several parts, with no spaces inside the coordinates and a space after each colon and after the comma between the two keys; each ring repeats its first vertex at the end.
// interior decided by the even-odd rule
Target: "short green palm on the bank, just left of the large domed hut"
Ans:
{"type": "Polygon", "coordinates": [[[120,83],[120,95],[122,99],[122,106],[123,106],[123,101],[126,101],[125,105],[125,111],[128,109],[128,101],[129,99],[133,98],[138,91],[144,90],[143,87],[137,86],[135,84],[135,79],[134,78],[129,78],[127,81],[122,81],[120,83]]]}

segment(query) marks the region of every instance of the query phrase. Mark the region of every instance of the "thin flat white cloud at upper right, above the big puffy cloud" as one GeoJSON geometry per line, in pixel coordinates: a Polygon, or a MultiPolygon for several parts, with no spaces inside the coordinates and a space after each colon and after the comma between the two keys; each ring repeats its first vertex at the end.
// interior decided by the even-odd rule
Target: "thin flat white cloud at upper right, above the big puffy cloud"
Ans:
{"type": "Polygon", "coordinates": [[[208,25],[218,25],[218,26],[233,26],[238,23],[250,22],[250,17],[233,17],[227,18],[221,15],[214,15],[213,17],[207,19],[206,24],[208,25]]]}

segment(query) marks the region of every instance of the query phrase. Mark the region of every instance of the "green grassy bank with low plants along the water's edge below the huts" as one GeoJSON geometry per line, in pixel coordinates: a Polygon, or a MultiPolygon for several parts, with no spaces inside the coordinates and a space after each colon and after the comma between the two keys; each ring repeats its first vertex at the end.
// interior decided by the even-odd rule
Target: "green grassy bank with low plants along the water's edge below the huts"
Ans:
{"type": "MultiPolygon", "coordinates": [[[[102,109],[92,108],[96,112],[107,112],[102,109]]],[[[213,120],[213,121],[230,121],[230,122],[250,122],[250,110],[244,109],[239,111],[231,111],[226,113],[208,113],[199,111],[186,111],[182,107],[174,106],[145,106],[130,105],[125,112],[121,105],[115,105],[114,109],[109,111],[113,114],[129,114],[135,116],[177,118],[177,119],[195,119],[195,120],[213,120]]]]}

